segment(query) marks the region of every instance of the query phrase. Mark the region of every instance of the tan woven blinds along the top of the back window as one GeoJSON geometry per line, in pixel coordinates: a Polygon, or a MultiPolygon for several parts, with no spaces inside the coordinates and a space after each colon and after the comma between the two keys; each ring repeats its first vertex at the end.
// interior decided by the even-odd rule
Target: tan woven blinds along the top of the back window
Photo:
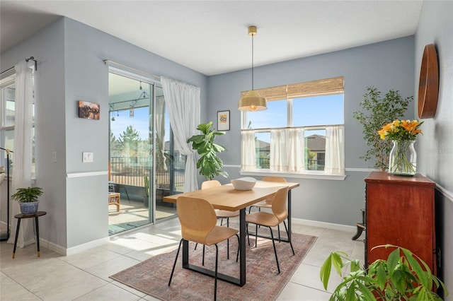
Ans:
{"type": "MultiPolygon", "coordinates": [[[[304,83],[292,83],[289,85],[278,85],[276,87],[256,90],[267,101],[283,100],[287,98],[306,98],[320,95],[333,95],[344,92],[343,76],[306,81],[304,83]]],[[[247,91],[241,92],[246,95],[247,91]]]]}

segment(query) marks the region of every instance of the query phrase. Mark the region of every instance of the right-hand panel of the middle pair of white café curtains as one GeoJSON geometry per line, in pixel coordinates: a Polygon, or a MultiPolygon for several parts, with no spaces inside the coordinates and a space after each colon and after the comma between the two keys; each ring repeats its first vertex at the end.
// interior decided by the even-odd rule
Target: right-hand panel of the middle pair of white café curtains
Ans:
{"type": "Polygon", "coordinates": [[[288,172],[305,171],[304,129],[286,129],[288,172]]]}

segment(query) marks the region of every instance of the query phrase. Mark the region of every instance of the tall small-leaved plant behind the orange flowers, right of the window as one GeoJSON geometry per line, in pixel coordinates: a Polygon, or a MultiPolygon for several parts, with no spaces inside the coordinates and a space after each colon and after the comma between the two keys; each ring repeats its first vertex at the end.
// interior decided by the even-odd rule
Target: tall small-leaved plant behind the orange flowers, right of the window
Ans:
{"type": "Polygon", "coordinates": [[[413,100],[413,96],[402,98],[398,90],[389,90],[381,98],[377,88],[367,87],[367,93],[363,95],[360,107],[363,111],[353,112],[352,116],[363,126],[363,138],[369,146],[369,150],[360,159],[374,162],[373,167],[385,171],[389,165],[389,153],[391,141],[382,140],[377,131],[382,129],[384,124],[401,119],[413,100]]]}

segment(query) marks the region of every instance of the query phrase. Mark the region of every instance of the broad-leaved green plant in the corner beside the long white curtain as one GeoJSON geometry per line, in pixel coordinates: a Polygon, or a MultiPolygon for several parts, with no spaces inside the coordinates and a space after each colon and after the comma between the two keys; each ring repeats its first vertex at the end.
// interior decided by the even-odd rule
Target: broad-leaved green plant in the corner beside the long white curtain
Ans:
{"type": "Polygon", "coordinates": [[[200,158],[197,161],[197,168],[200,168],[200,175],[204,175],[206,179],[213,179],[215,176],[221,175],[228,177],[228,174],[222,170],[224,163],[217,157],[217,153],[226,151],[224,146],[214,143],[216,136],[225,134],[222,131],[211,129],[212,122],[199,124],[197,129],[202,132],[201,135],[193,135],[188,138],[187,143],[192,142],[193,150],[197,151],[200,158]]]}

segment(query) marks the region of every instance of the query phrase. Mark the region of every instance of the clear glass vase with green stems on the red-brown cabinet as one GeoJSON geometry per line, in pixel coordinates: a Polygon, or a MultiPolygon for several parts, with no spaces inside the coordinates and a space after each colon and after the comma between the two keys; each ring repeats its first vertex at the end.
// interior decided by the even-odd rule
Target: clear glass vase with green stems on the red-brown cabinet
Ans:
{"type": "Polygon", "coordinates": [[[389,173],[393,175],[415,175],[417,171],[415,140],[394,140],[393,143],[394,147],[389,155],[389,173]]]}

